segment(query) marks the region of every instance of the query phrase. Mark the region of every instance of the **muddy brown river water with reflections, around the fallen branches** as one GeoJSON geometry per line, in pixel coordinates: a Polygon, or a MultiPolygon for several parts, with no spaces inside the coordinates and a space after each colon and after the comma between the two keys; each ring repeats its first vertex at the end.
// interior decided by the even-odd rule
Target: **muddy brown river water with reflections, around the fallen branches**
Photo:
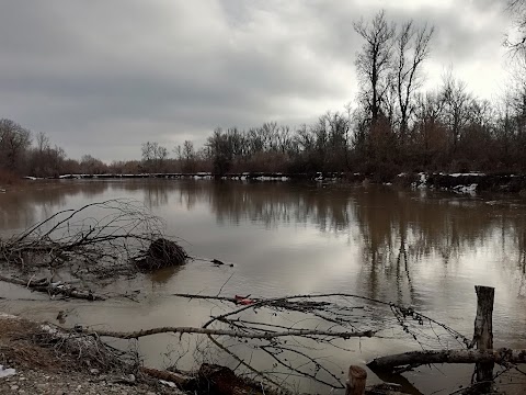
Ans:
{"type": "MultiPolygon", "coordinates": [[[[5,300],[0,301],[0,309],[52,321],[65,311],[67,326],[133,330],[201,326],[210,314],[222,311],[218,304],[188,302],[171,296],[173,293],[215,295],[221,291],[231,296],[273,297],[346,292],[412,305],[471,337],[473,287],[481,284],[496,289],[495,347],[526,348],[524,200],[381,185],[65,180],[1,193],[0,233],[10,235],[60,210],[116,198],[144,202],[164,219],[167,234],[179,237],[192,256],[217,258],[233,267],[194,261],[104,289],[140,291],[139,303],[122,297],[96,304],[47,301],[1,283],[0,296],[5,300]]],[[[392,319],[388,311],[382,314],[386,316],[376,319],[392,319]]],[[[152,366],[178,360],[188,364],[199,352],[213,353],[188,337],[168,335],[145,338],[138,347],[152,366]]],[[[351,363],[363,364],[420,345],[385,336],[350,340],[345,348],[312,352],[338,366],[333,370],[341,375],[351,363]]],[[[263,368],[265,361],[263,358],[263,368]]],[[[224,362],[236,365],[235,361],[224,362]]],[[[424,366],[404,377],[413,393],[447,394],[467,384],[471,372],[472,366],[424,366]]],[[[369,376],[370,382],[378,381],[370,372],[369,376]]],[[[516,388],[518,384],[513,385],[516,388]]],[[[325,392],[310,381],[298,388],[325,392]]]]}

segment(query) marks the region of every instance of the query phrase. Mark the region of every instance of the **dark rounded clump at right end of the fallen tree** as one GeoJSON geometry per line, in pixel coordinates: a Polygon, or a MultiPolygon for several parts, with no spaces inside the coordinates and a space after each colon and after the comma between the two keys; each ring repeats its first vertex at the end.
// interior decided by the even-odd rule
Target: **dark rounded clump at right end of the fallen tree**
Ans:
{"type": "Polygon", "coordinates": [[[150,244],[144,259],[137,261],[140,269],[153,270],[184,264],[188,256],[175,241],[158,238],[150,244]]]}

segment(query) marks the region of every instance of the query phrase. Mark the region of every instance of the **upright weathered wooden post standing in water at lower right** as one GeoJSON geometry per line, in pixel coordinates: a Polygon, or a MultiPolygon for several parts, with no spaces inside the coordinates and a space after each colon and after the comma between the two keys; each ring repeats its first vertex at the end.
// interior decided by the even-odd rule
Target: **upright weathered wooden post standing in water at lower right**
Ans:
{"type": "MultiPolygon", "coordinates": [[[[495,289],[491,286],[476,285],[477,316],[474,318],[474,334],[477,349],[493,349],[493,301],[495,289]]],[[[477,382],[491,382],[493,380],[493,362],[476,364],[477,382]]]]}

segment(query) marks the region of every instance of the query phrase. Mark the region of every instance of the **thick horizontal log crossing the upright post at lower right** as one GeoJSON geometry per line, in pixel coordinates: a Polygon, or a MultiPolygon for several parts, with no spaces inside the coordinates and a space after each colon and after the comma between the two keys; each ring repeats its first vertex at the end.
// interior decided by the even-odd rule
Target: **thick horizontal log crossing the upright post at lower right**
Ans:
{"type": "Polygon", "coordinates": [[[432,363],[526,363],[526,350],[506,348],[494,350],[411,351],[380,357],[367,363],[373,371],[392,371],[401,366],[432,363]]]}

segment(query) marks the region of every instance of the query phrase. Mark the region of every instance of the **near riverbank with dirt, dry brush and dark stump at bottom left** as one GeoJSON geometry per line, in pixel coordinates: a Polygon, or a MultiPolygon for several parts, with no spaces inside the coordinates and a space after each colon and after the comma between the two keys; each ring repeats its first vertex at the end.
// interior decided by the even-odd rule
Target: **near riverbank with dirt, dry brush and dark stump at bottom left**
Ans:
{"type": "Polygon", "coordinates": [[[0,394],[277,395],[260,382],[203,363],[195,372],[146,368],[136,351],[96,334],[0,313],[0,394]]]}

